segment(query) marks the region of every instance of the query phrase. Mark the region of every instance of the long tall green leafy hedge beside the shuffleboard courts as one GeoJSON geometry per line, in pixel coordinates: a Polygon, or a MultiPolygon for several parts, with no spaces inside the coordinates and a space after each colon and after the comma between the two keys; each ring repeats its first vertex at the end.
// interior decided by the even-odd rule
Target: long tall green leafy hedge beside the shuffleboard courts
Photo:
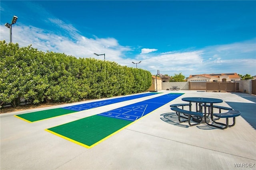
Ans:
{"type": "Polygon", "coordinates": [[[76,102],[145,92],[147,70],[0,41],[0,102],[76,102]]]}

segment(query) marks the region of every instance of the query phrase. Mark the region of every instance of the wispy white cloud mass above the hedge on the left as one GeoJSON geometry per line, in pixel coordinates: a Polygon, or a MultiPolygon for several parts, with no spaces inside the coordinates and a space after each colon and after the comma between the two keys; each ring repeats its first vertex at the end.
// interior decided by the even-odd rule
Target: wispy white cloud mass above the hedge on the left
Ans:
{"type": "MultiPolygon", "coordinates": [[[[72,27],[67,29],[70,28],[72,27]]],[[[1,40],[5,39],[9,42],[9,29],[0,25],[0,35],[1,40]]],[[[78,33],[69,38],[56,35],[52,31],[26,25],[15,25],[15,29],[12,31],[12,42],[18,42],[20,47],[32,44],[32,47],[38,50],[65,53],[75,57],[103,59],[102,56],[97,57],[93,53],[106,53],[106,58],[109,61],[118,61],[123,53],[131,50],[130,47],[118,44],[118,41],[114,38],[89,39],[78,33]]]]}

